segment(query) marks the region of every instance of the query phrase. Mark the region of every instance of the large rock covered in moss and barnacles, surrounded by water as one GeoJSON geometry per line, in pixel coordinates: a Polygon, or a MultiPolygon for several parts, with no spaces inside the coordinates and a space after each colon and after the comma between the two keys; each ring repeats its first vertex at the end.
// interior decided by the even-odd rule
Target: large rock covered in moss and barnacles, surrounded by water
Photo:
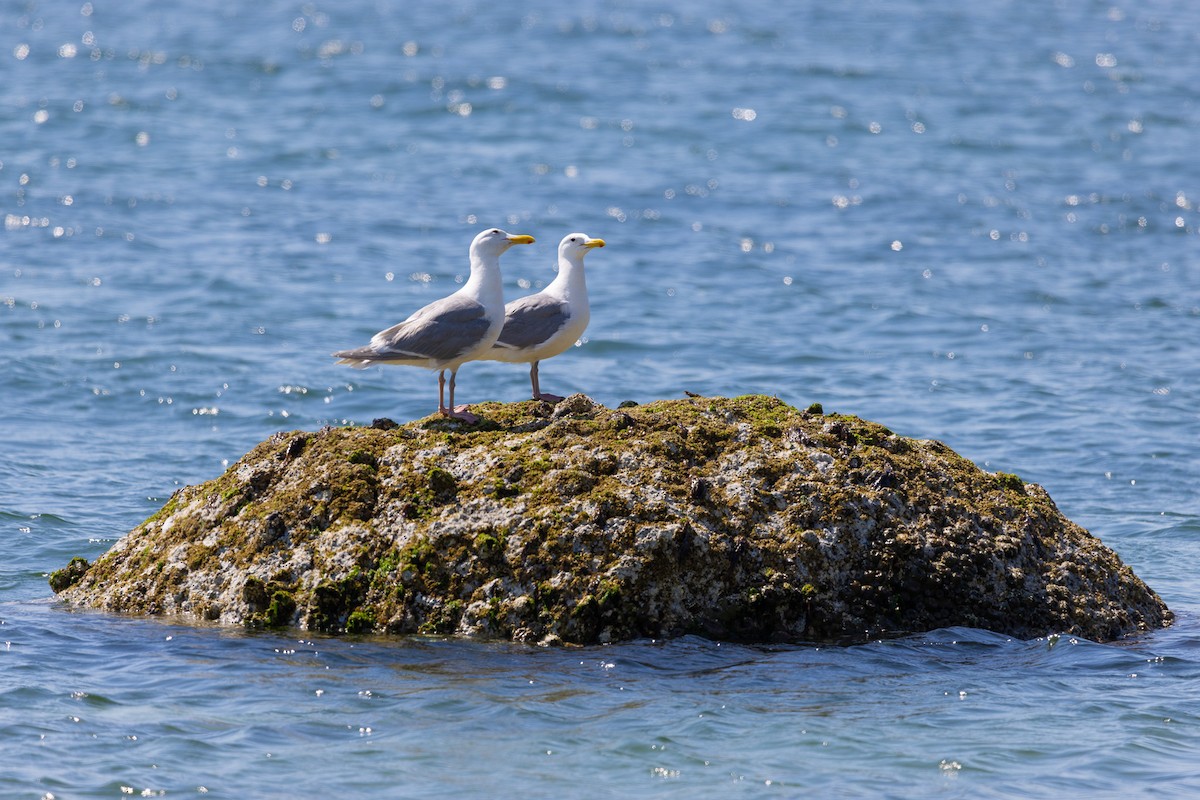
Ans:
{"type": "Polygon", "coordinates": [[[329,632],[1116,639],[1163,601],[1042,487],[749,396],[280,433],[180,489],[62,600],[329,632]]]}

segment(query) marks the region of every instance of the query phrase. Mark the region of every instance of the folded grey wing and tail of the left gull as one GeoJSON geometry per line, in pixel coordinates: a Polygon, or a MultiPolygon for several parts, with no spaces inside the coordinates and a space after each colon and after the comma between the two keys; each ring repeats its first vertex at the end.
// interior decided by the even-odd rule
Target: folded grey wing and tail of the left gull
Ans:
{"type": "Polygon", "coordinates": [[[379,331],[371,344],[358,350],[335,353],[340,357],[434,359],[451,361],[479,344],[491,323],[487,309],[469,297],[450,295],[431,302],[412,317],[379,331]]]}

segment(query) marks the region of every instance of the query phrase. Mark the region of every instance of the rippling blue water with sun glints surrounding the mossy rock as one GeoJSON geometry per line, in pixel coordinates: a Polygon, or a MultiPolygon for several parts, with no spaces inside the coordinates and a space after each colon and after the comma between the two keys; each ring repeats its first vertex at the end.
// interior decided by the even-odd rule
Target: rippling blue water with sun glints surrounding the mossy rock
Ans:
{"type": "Polygon", "coordinates": [[[0,2],[0,795],[1200,794],[1200,6],[206,5],[0,2]],[[491,225],[538,237],[510,296],[608,242],[545,390],[942,439],[1176,625],[544,650],[54,602],[271,433],[431,413],[328,354],[491,225]]]}

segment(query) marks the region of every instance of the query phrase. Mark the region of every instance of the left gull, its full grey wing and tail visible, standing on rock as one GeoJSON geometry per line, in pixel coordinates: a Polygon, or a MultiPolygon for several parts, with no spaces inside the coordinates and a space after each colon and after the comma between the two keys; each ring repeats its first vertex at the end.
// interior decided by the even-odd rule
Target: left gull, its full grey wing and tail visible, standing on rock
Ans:
{"type": "Polygon", "coordinates": [[[533,236],[490,228],[470,242],[470,277],[461,289],[436,300],[398,325],[379,331],[371,344],[334,354],[337,363],[365,369],[373,363],[400,363],[438,371],[438,414],[474,423],[466,405],[455,407],[458,367],[487,353],[504,326],[504,285],[500,255],[514,245],[532,245],[533,236]],[[450,405],[445,373],[450,371],[450,405]]]}

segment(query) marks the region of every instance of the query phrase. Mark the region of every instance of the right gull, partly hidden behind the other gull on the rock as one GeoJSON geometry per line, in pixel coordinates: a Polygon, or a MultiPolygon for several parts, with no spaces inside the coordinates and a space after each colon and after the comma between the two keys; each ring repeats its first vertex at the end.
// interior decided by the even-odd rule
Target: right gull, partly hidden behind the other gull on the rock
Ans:
{"type": "Polygon", "coordinates": [[[583,279],[583,257],[602,239],[587,234],[568,234],[558,243],[558,276],[550,285],[504,307],[504,330],[481,360],[532,363],[529,383],[533,398],[557,403],[558,395],[541,391],[538,362],[563,353],[575,344],[588,326],[588,285],[583,279]]]}

